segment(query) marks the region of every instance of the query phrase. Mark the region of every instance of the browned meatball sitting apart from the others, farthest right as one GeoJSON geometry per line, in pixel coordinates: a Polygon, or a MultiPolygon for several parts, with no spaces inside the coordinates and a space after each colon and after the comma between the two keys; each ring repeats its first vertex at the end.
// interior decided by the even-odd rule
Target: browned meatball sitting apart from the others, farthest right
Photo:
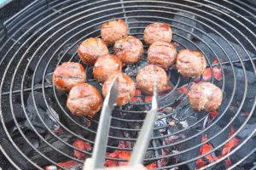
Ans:
{"type": "Polygon", "coordinates": [[[222,91],[210,82],[194,84],[189,93],[189,104],[195,111],[216,111],[222,102],[222,91]]]}

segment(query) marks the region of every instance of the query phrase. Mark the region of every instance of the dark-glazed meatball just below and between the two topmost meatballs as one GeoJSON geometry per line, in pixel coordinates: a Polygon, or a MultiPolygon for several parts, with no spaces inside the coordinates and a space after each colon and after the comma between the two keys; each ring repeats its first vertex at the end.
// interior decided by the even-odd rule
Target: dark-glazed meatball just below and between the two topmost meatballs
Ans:
{"type": "Polygon", "coordinates": [[[114,43],[113,51],[123,63],[134,64],[141,59],[143,42],[137,37],[125,36],[114,43]]]}

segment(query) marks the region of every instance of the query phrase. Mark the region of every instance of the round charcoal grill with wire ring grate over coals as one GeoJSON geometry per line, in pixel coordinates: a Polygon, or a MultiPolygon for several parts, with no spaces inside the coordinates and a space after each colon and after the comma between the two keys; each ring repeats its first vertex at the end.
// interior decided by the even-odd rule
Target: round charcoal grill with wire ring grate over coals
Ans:
{"type": "MultiPolygon", "coordinates": [[[[207,81],[222,88],[224,102],[218,116],[212,119],[209,119],[212,113],[191,110],[186,94],[195,81],[205,79],[180,77],[172,67],[168,71],[172,89],[158,99],[160,115],[145,165],[155,163],[156,169],[195,169],[198,160],[212,156],[218,159],[200,168],[227,168],[225,162],[229,160],[230,169],[255,169],[256,147],[247,150],[247,144],[252,146],[256,141],[255,14],[256,3],[249,0],[34,1],[5,20],[0,30],[1,137],[9,143],[7,148],[2,142],[0,150],[14,167],[21,169],[44,169],[48,165],[67,169],[58,163],[83,163],[73,156],[73,150],[86,156],[91,156],[91,150],[75,147],[73,139],[82,139],[93,146],[98,116],[75,117],[67,111],[67,94],[57,91],[50,82],[55,65],[71,60],[80,62],[76,53],[79,43],[87,37],[100,37],[103,22],[123,19],[129,34],[143,41],[144,27],[159,21],[172,26],[177,49],[199,49],[206,55],[210,71],[207,81]],[[216,69],[221,72],[218,80],[216,69]],[[168,122],[175,123],[171,126],[168,122]],[[231,127],[233,133],[230,133],[231,127]],[[38,142],[28,138],[27,132],[33,133],[38,142]],[[66,134],[65,139],[61,133],[66,134]],[[203,140],[206,135],[207,139],[203,140]],[[23,145],[15,139],[17,136],[24,141],[23,145]],[[177,139],[172,140],[174,137],[177,139]],[[219,150],[234,138],[239,139],[239,143],[218,156],[219,150]],[[59,142],[58,145],[52,140],[59,142]],[[205,144],[211,144],[212,149],[200,154],[205,144]],[[41,145],[56,156],[50,156],[41,145]],[[242,155],[240,150],[246,150],[246,154],[242,155]],[[253,160],[248,162],[249,158],[253,160]]],[[[144,48],[143,59],[137,65],[124,67],[131,77],[135,77],[137,69],[147,61],[148,46],[144,48]]],[[[88,82],[100,89],[101,84],[92,77],[91,67],[85,68],[88,82]]],[[[138,93],[135,97],[136,102],[113,111],[108,152],[132,150],[132,147],[120,147],[119,143],[133,145],[145,111],[150,108],[148,96],[138,93]]],[[[125,161],[109,156],[106,159],[125,161]]]]}

